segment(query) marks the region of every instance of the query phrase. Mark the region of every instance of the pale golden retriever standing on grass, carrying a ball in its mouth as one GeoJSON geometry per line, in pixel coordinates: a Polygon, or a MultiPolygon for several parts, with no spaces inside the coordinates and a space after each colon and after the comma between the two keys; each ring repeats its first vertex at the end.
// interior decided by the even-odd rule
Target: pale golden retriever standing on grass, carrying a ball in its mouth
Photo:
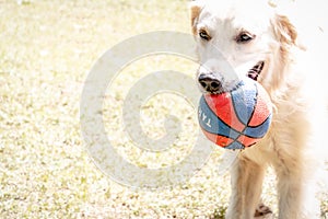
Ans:
{"type": "MultiPolygon", "coordinates": [[[[269,132],[242,151],[231,168],[232,195],[227,219],[272,216],[261,204],[265,171],[277,174],[280,219],[319,218],[316,199],[318,148],[325,117],[318,65],[309,60],[297,27],[263,0],[196,0],[191,30],[200,67],[202,93],[236,88],[244,77],[259,82],[273,104],[269,132]],[[316,90],[318,89],[318,90],[316,90]]],[[[313,59],[313,58],[312,58],[313,59]]]]}

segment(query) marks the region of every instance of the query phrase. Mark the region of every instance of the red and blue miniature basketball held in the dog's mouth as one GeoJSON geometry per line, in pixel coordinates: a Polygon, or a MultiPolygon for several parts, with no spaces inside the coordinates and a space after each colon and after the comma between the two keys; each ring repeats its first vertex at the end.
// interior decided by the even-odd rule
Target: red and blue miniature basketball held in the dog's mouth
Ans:
{"type": "Polygon", "coordinates": [[[246,149],[268,132],[272,103],[266,90],[245,78],[236,89],[220,94],[203,94],[198,118],[206,137],[225,149],[246,149]]]}

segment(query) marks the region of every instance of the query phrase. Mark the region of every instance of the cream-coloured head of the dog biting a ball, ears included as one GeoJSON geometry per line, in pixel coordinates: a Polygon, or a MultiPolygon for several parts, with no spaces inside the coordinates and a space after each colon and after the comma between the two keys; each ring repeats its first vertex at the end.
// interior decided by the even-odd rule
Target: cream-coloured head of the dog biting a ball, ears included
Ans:
{"type": "Polygon", "coordinates": [[[243,77],[279,82],[273,69],[296,41],[286,18],[262,0],[194,1],[191,25],[201,64],[197,78],[208,93],[230,91],[243,77]]]}

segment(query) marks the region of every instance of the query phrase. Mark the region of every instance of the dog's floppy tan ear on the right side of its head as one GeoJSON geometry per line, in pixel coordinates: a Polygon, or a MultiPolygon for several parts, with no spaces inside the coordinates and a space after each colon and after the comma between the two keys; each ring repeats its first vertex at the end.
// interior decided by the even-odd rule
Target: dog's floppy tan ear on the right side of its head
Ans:
{"type": "Polygon", "coordinates": [[[276,15],[273,30],[278,41],[286,45],[297,45],[297,32],[295,26],[285,15],[276,15]]]}

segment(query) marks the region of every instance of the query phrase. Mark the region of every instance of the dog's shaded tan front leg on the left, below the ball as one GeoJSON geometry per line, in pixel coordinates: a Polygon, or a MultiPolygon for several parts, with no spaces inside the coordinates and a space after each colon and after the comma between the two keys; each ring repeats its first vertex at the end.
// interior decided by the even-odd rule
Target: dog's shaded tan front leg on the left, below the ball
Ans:
{"type": "Polygon", "coordinates": [[[239,158],[232,168],[232,195],[226,219],[253,219],[260,201],[265,168],[239,158]]]}

